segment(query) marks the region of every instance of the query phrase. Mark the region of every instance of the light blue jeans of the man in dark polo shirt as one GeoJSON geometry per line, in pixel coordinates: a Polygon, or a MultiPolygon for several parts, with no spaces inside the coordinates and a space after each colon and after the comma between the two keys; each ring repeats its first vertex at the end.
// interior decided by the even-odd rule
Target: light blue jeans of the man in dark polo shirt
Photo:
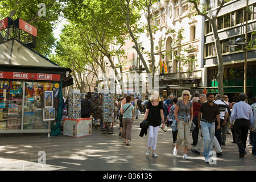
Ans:
{"type": "Polygon", "coordinates": [[[204,137],[203,155],[205,158],[209,158],[209,152],[212,151],[215,123],[201,122],[201,131],[204,137]]]}

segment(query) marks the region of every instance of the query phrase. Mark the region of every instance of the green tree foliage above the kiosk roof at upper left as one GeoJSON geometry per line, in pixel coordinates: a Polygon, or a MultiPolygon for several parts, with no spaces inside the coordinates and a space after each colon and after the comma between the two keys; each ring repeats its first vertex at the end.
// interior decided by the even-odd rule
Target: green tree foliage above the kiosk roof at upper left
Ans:
{"type": "Polygon", "coordinates": [[[48,56],[55,46],[56,39],[53,36],[53,30],[62,9],[62,2],[56,0],[1,0],[0,19],[7,16],[14,20],[21,18],[38,28],[35,51],[48,56]],[[39,10],[42,9],[42,6],[38,7],[39,3],[46,5],[46,16],[38,14],[39,10]]]}

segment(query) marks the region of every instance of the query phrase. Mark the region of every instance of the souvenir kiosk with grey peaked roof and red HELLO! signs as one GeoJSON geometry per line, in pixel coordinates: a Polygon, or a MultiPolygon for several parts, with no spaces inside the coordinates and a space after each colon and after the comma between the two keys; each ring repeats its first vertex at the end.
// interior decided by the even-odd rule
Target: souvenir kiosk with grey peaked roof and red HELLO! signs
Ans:
{"type": "Polygon", "coordinates": [[[62,88],[73,84],[72,71],[32,49],[35,27],[10,18],[0,25],[0,134],[48,133],[49,123],[60,122],[62,88]],[[32,43],[21,42],[12,30],[31,36],[32,43]]]}

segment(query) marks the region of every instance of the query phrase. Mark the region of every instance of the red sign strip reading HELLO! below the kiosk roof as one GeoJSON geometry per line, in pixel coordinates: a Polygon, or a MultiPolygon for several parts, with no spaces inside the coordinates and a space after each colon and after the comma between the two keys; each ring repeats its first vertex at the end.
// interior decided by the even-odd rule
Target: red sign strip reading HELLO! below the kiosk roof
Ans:
{"type": "Polygon", "coordinates": [[[0,78],[18,80],[60,81],[59,74],[48,73],[0,72],[0,78]]]}

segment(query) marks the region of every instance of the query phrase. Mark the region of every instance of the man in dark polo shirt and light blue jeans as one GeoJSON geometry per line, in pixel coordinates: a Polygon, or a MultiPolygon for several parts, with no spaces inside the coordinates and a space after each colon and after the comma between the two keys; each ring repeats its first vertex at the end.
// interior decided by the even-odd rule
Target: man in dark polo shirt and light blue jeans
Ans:
{"type": "Polygon", "coordinates": [[[216,120],[217,129],[220,130],[220,110],[218,109],[218,105],[214,104],[213,100],[213,93],[207,93],[207,102],[201,105],[198,115],[198,127],[201,129],[204,136],[204,161],[207,163],[213,161],[209,156],[209,152],[212,151],[216,120]]]}

